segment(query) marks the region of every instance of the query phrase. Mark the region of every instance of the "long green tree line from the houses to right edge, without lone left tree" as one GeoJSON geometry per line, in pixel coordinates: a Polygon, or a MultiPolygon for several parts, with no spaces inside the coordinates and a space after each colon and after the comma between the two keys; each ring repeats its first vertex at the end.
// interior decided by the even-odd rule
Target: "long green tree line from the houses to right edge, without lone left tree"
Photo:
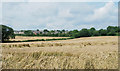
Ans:
{"type": "MultiPolygon", "coordinates": [[[[36,31],[39,31],[38,29],[36,31]]],[[[51,36],[51,37],[91,37],[91,36],[119,36],[120,27],[118,26],[108,26],[106,29],[96,30],[94,27],[87,29],[83,28],[81,30],[43,30],[43,32],[34,34],[32,30],[24,31],[24,34],[19,34],[21,36],[51,36]],[[57,32],[57,33],[55,33],[57,32]]]]}

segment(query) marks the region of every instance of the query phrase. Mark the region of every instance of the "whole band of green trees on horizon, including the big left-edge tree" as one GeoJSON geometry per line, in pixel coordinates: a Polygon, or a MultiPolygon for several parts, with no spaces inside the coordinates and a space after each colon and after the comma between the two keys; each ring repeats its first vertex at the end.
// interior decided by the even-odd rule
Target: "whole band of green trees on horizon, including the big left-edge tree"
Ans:
{"type": "MultiPolygon", "coordinates": [[[[39,31],[37,29],[37,31],[39,31]]],[[[32,30],[24,31],[24,34],[19,34],[20,36],[52,36],[52,37],[71,37],[71,38],[80,38],[80,37],[91,37],[91,36],[120,36],[120,27],[118,26],[108,26],[106,29],[96,30],[94,27],[90,29],[83,28],[81,30],[57,30],[55,33],[54,30],[43,31],[44,33],[34,34],[32,30]]],[[[18,35],[18,34],[17,34],[18,35]]],[[[0,41],[8,41],[10,38],[15,38],[14,30],[11,27],[0,25],[0,41]]]]}

